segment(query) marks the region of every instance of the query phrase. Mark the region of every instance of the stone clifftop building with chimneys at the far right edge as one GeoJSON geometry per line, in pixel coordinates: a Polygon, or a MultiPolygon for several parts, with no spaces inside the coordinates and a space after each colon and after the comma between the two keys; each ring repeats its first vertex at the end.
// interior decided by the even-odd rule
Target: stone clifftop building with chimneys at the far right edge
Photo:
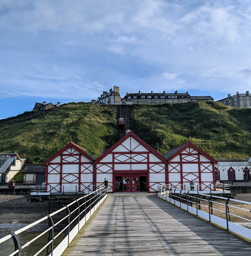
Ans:
{"type": "Polygon", "coordinates": [[[231,94],[228,94],[227,98],[224,98],[222,100],[217,100],[217,102],[220,102],[225,106],[229,106],[229,107],[251,108],[249,104],[250,100],[251,100],[251,94],[249,94],[249,91],[247,91],[246,94],[239,93],[239,92],[236,92],[236,94],[233,96],[231,96],[231,94]]]}

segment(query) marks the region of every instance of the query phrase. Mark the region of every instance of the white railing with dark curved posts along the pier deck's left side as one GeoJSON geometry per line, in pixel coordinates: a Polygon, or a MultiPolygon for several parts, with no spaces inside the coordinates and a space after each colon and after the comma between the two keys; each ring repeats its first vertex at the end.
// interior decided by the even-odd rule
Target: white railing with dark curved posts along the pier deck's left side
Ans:
{"type": "MultiPolygon", "coordinates": [[[[82,226],[84,226],[86,221],[90,218],[90,216],[92,216],[98,206],[100,206],[100,204],[104,201],[106,196],[106,188],[99,188],[98,190],[86,196],[78,198],[77,200],[71,202],[70,204],[64,206],[56,212],[48,214],[47,216],[44,216],[40,220],[37,220],[25,226],[24,228],[11,232],[7,236],[0,238],[0,245],[12,239],[14,242],[14,252],[9,254],[9,256],[20,256],[21,253],[28,246],[34,245],[34,242],[38,239],[38,242],[40,242],[41,237],[48,234],[48,242],[44,245],[41,245],[42,248],[40,248],[35,254],[32,253],[28,255],[37,256],[41,252],[44,252],[46,250],[46,256],[60,256],[64,252],[66,247],[69,246],[70,242],[73,240],[76,234],[78,234],[82,226]],[[64,216],[58,218],[59,216],[61,216],[60,214],[63,214],[64,216]],[[29,240],[25,244],[20,243],[18,235],[24,233],[26,230],[32,227],[36,227],[38,224],[41,224],[45,221],[48,221],[48,228],[46,230],[41,232],[38,236],[29,240]],[[60,241],[57,240],[59,238],[60,241]],[[56,241],[58,242],[58,245],[56,246],[56,248],[54,248],[56,241]]],[[[2,250],[2,252],[4,252],[4,250],[2,250]]],[[[45,253],[43,255],[45,255],[45,253]]]]}

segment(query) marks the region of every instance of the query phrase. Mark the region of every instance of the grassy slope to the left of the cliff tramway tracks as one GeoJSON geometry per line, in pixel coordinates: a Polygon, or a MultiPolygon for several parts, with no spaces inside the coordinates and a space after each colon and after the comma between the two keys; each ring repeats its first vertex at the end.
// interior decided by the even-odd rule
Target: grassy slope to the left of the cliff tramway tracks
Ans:
{"type": "Polygon", "coordinates": [[[72,142],[100,156],[118,140],[117,108],[89,103],[65,106],[26,122],[0,128],[0,152],[41,163],[72,142]]]}

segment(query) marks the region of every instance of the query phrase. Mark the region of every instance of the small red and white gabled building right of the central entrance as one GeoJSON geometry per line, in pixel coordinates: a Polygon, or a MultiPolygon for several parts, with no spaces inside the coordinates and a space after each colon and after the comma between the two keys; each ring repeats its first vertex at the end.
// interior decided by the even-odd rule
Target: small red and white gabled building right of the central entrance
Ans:
{"type": "Polygon", "coordinates": [[[215,168],[217,161],[203,150],[189,142],[173,148],[163,156],[167,160],[168,184],[184,185],[189,188],[193,180],[201,190],[215,184],[215,168]]]}

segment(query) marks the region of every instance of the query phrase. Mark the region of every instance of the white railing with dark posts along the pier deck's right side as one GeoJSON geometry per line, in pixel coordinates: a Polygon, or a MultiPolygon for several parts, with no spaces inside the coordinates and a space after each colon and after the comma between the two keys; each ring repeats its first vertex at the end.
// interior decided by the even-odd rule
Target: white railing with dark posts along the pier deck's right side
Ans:
{"type": "Polygon", "coordinates": [[[175,189],[170,193],[166,190],[165,186],[158,186],[158,197],[251,240],[251,229],[231,221],[234,218],[238,218],[238,220],[244,221],[244,224],[250,223],[251,202],[204,194],[202,192],[193,194],[191,191],[179,189],[175,189]],[[235,205],[231,205],[231,202],[235,203],[235,205]],[[239,207],[240,205],[242,207],[239,207]],[[223,215],[225,218],[219,217],[220,214],[221,217],[223,215]]]}

